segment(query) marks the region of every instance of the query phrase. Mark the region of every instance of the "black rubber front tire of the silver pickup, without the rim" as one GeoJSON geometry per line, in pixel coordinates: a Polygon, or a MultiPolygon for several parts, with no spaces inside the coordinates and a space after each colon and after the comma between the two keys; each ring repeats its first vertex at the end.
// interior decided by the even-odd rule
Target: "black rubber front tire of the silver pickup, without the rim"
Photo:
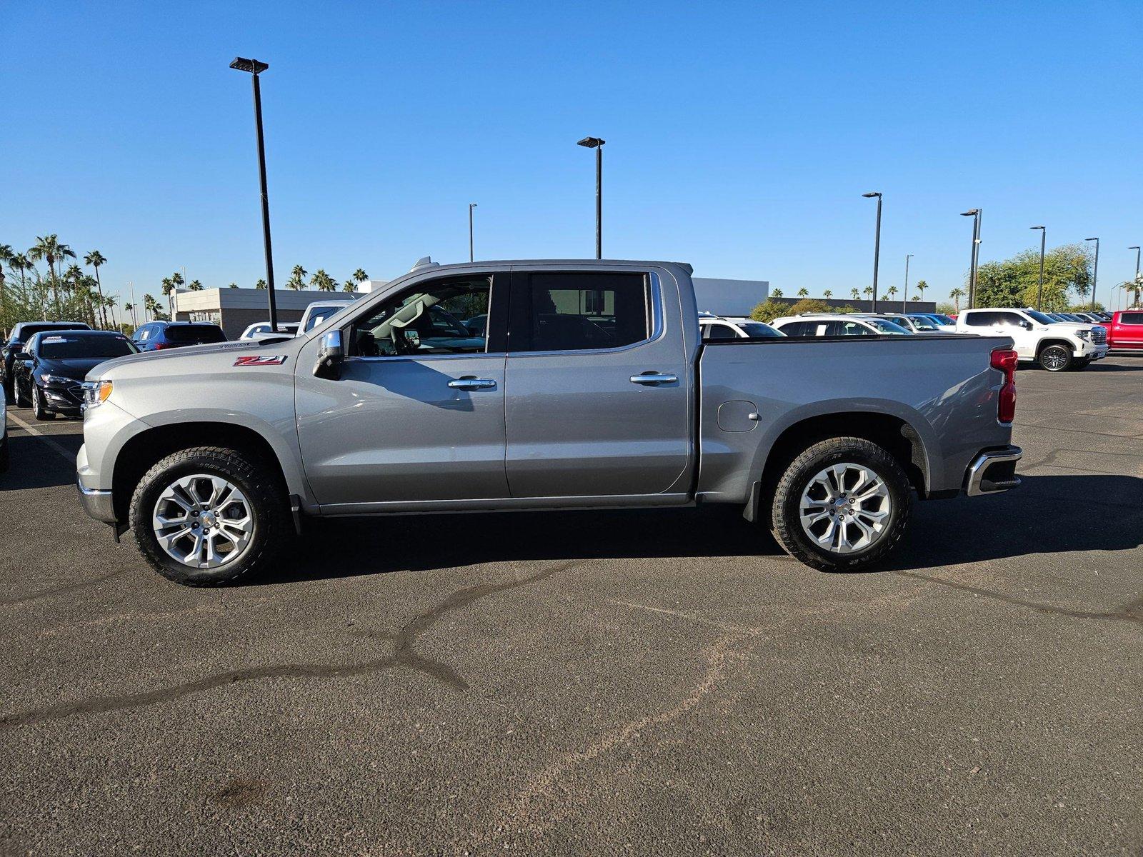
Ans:
{"type": "Polygon", "coordinates": [[[151,568],[184,586],[217,586],[271,567],[294,540],[286,487],[274,467],[243,450],[194,447],[168,455],[151,467],[131,495],[130,526],[151,568]],[[216,568],[195,568],[170,556],[159,544],[152,515],[160,495],[176,480],[193,474],[222,476],[246,496],[253,532],[240,554],[216,568]]]}

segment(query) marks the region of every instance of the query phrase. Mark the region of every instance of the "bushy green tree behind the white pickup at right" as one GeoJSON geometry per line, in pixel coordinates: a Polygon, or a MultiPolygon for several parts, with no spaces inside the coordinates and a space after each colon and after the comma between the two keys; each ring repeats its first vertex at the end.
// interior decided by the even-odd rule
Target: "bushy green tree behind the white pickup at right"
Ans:
{"type": "MultiPolygon", "coordinates": [[[[1060,312],[1069,293],[1085,295],[1092,287],[1090,253],[1082,245],[1054,247],[1044,255],[1044,310],[1060,312]]],[[[1028,249],[1008,259],[985,262],[976,271],[976,306],[1036,306],[1040,251],[1028,249]]]]}

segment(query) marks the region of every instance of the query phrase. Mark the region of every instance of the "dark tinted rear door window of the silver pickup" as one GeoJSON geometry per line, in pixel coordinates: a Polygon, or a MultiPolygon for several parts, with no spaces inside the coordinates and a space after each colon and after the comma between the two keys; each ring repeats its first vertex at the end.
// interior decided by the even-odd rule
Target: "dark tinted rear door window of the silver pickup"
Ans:
{"type": "Polygon", "coordinates": [[[644,274],[534,273],[522,291],[529,311],[522,319],[513,309],[512,351],[617,349],[648,337],[644,274]]]}

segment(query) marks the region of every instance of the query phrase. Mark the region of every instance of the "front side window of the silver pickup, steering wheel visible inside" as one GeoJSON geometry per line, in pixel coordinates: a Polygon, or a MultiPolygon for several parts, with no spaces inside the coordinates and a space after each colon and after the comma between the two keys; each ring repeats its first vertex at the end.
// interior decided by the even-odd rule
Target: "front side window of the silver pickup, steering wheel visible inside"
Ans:
{"type": "MultiPolygon", "coordinates": [[[[350,353],[358,357],[473,354],[486,351],[482,336],[461,322],[488,312],[491,281],[478,279],[419,283],[400,291],[353,322],[350,353]]],[[[343,307],[330,307],[330,315],[343,307]]]]}

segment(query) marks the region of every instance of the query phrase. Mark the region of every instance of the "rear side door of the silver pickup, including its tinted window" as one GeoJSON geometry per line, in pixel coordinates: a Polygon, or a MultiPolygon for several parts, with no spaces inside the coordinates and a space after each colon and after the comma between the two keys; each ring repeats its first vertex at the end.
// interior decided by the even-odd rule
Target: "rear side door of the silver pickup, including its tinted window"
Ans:
{"type": "Polygon", "coordinates": [[[513,497],[686,498],[694,382],[676,288],[650,271],[513,271],[513,497]]]}

